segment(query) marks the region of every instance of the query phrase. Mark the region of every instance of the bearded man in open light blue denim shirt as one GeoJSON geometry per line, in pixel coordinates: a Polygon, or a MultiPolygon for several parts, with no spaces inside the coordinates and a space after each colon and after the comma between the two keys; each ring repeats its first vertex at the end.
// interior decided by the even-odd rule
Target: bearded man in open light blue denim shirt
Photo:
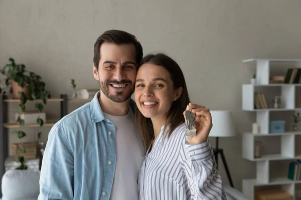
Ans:
{"type": "Polygon", "coordinates": [[[52,127],[38,199],[138,199],[143,147],[130,96],[142,54],[125,31],[98,37],[93,73],[101,90],[52,127]]]}

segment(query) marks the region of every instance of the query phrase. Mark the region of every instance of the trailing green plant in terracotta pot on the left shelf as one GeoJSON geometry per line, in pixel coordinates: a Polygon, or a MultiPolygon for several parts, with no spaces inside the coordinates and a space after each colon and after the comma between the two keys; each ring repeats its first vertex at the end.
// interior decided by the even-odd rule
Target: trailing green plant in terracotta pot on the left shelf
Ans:
{"type": "MultiPolygon", "coordinates": [[[[42,99],[42,102],[35,102],[36,108],[42,112],[44,105],[47,103],[47,98],[51,98],[51,94],[45,89],[45,82],[42,80],[41,76],[38,74],[26,70],[25,64],[16,64],[14,58],[10,58],[10,63],[6,64],[0,72],[6,76],[5,81],[0,80],[0,82],[5,82],[6,87],[10,88],[10,92],[13,93],[14,98],[20,99],[19,103],[19,117],[17,122],[20,126],[24,125],[24,119],[20,115],[26,111],[26,102],[28,100],[42,99]]],[[[5,94],[4,88],[0,85],[0,94],[5,94]]],[[[37,118],[37,123],[42,126],[44,121],[42,118],[37,118]]],[[[26,136],[26,132],[21,130],[12,130],[12,133],[18,134],[18,138],[21,139],[26,136]]],[[[38,138],[41,137],[41,132],[38,133],[38,138]]],[[[26,153],[26,149],[20,144],[20,150],[26,153]]],[[[20,166],[18,169],[26,169],[24,156],[19,156],[18,161],[20,166]]]]}

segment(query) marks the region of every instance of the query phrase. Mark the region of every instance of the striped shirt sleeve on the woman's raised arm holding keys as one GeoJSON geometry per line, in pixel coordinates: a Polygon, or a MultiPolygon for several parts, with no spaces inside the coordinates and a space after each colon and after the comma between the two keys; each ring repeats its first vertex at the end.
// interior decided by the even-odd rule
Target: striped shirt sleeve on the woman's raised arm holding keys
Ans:
{"type": "Polygon", "coordinates": [[[181,151],[191,199],[227,199],[209,141],[199,144],[185,141],[181,151]]]}

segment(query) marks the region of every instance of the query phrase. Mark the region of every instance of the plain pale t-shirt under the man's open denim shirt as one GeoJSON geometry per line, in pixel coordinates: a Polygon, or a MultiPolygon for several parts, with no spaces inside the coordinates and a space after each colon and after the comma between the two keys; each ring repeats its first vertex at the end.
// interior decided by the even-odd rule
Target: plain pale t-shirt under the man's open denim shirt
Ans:
{"type": "Polygon", "coordinates": [[[138,200],[138,172],[144,160],[141,137],[131,107],[125,116],[104,116],[114,122],[116,130],[116,168],[111,200],[138,200]]]}

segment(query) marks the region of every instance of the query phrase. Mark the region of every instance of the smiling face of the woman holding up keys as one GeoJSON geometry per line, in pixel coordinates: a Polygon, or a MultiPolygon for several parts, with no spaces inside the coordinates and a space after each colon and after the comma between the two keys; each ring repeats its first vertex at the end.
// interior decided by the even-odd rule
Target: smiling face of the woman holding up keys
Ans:
{"type": "Polygon", "coordinates": [[[135,101],[143,116],[166,117],[177,98],[176,94],[170,73],[163,66],[152,63],[140,66],[136,76],[135,101]]]}

